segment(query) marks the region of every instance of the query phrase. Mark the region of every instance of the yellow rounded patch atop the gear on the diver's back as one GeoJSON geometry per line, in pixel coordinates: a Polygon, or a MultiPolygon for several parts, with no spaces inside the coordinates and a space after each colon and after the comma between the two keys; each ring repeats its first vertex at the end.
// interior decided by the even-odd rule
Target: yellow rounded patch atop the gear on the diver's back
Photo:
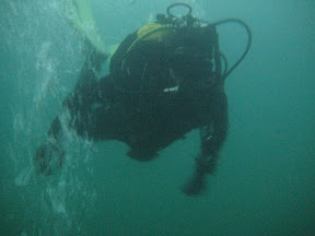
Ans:
{"type": "Polygon", "coordinates": [[[149,34],[152,31],[156,31],[153,34],[148,35],[144,37],[143,40],[159,40],[165,36],[170,36],[170,27],[165,27],[165,25],[161,25],[158,23],[148,23],[142,28],[137,32],[138,38],[149,34]]]}

